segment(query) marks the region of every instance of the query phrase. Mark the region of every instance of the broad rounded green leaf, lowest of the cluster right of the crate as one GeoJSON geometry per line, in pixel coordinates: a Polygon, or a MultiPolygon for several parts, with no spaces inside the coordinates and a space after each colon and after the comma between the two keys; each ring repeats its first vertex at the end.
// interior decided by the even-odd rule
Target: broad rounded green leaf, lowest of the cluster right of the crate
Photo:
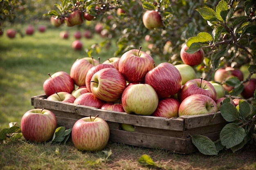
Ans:
{"type": "Polygon", "coordinates": [[[231,148],[240,144],[245,136],[245,129],[234,123],[227,124],[220,132],[220,140],[223,146],[231,148]]]}

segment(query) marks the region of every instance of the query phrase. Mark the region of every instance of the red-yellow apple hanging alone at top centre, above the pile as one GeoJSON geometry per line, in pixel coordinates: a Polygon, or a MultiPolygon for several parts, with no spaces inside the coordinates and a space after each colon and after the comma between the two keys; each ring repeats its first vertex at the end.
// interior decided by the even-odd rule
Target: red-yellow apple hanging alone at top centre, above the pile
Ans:
{"type": "Polygon", "coordinates": [[[153,10],[144,13],[142,22],[147,29],[155,29],[163,25],[161,15],[153,10]]]}

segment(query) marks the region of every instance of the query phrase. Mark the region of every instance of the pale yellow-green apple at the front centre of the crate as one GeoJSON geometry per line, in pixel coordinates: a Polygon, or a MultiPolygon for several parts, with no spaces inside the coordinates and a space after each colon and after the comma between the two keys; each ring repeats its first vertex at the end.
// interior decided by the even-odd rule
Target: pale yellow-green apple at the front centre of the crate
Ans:
{"type": "Polygon", "coordinates": [[[149,84],[131,84],[124,90],[121,101],[126,113],[151,115],[157,109],[158,96],[149,84]]]}

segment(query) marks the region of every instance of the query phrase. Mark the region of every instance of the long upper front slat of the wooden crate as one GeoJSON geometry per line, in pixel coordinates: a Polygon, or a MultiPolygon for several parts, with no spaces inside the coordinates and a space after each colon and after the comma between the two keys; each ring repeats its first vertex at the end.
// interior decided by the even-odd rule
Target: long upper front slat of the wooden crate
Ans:
{"type": "MultiPolygon", "coordinates": [[[[106,121],[117,123],[132,124],[134,126],[144,126],[168,130],[184,130],[184,119],[168,119],[164,117],[153,117],[144,115],[134,115],[122,112],[114,112],[109,110],[102,110],[89,106],[76,105],[72,103],[49,101],[42,98],[34,98],[35,108],[45,108],[49,110],[59,110],[67,113],[75,113],[81,116],[96,116],[99,115],[106,121]]],[[[72,115],[70,118],[73,118],[72,115]]]]}

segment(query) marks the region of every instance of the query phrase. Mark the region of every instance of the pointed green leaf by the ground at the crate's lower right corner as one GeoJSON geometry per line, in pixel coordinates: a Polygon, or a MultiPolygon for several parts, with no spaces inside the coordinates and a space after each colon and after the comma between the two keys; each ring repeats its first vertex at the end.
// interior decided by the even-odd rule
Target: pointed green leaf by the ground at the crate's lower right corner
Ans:
{"type": "Polygon", "coordinates": [[[198,148],[198,150],[204,155],[218,155],[216,146],[209,137],[202,135],[191,136],[192,143],[198,148]]]}

